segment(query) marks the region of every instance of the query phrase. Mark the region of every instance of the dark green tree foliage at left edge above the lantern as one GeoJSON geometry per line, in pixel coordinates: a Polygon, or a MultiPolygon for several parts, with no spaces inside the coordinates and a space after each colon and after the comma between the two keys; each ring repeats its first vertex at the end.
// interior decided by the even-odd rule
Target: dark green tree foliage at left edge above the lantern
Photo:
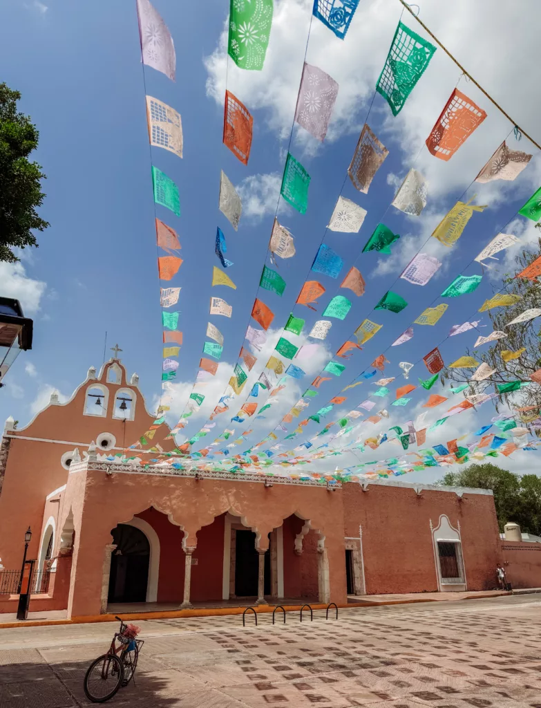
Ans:
{"type": "Polygon", "coordinates": [[[37,148],[40,136],[28,115],[19,113],[21,93],[0,84],[0,261],[19,260],[13,247],[36,246],[33,230],[49,224],[36,212],[45,194],[41,166],[28,156],[37,148]]]}

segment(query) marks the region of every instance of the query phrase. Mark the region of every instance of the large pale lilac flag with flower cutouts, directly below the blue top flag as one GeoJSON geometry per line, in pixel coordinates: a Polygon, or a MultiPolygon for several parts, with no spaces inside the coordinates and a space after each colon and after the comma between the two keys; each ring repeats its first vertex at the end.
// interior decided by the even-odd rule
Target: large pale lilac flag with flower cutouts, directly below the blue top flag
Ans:
{"type": "Polygon", "coordinates": [[[295,120],[318,140],[324,140],[332,108],[338,95],[338,84],[329,74],[304,62],[298,90],[295,120]]]}

